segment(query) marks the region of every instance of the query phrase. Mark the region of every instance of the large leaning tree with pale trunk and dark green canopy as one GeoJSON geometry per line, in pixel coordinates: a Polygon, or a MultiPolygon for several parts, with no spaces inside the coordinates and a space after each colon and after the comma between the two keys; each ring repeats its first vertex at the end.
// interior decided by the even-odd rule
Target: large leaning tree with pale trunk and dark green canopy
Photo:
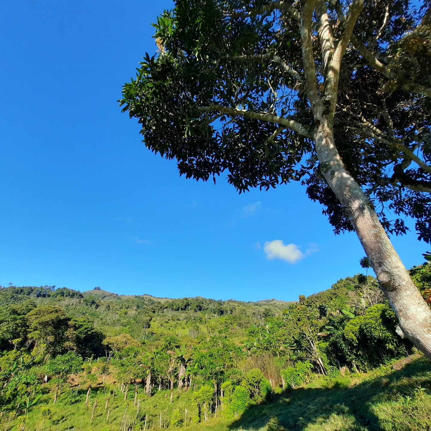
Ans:
{"type": "Polygon", "coordinates": [[[431,358],[431,312],[387,237],[406,232],[392,211],[431,241],[429,6],[178,0],[120,103],[187,178],[306,184],[336,232],[356,231],[400,335],[431,358]]]}

